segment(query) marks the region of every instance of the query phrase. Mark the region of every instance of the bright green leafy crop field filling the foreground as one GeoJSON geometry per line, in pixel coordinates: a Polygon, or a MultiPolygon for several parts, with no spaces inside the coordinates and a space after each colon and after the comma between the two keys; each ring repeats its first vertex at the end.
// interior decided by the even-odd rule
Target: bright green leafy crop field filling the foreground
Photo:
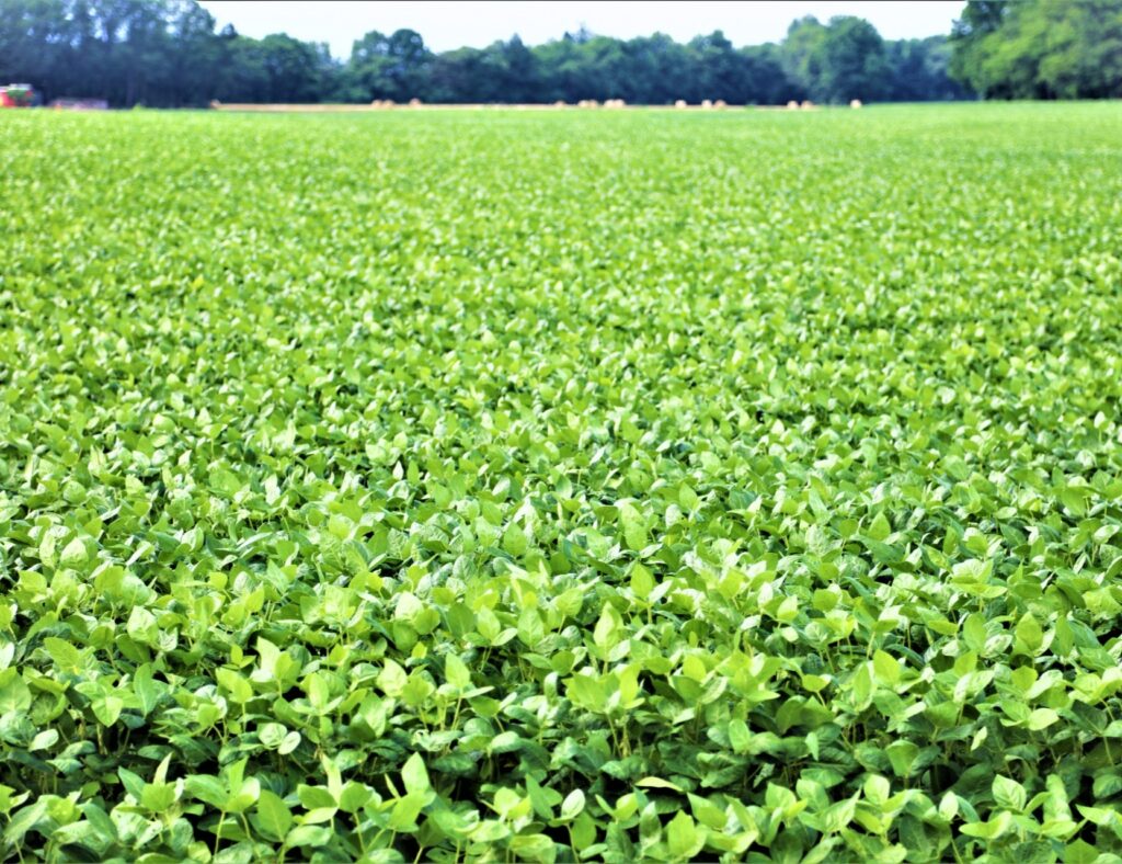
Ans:
{"type": "Polygon", "coordinates": [[[0,177],[0,857],[1119,861],[1122,107],[0,177]]]}

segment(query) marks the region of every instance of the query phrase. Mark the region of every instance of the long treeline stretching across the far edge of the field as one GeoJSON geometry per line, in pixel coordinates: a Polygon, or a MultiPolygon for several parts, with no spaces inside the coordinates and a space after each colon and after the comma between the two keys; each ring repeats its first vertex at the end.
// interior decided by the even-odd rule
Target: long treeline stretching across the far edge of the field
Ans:
{"type": "Polygon", "coordinates": [[[435,53],[414,30],[371,31],[342,61],[324,44],[284,34],[215,31],[194,0],[0,0],[0,81],[30,83],[47,100],[96,96],[117,107],[1110,95],[1120,80],[1110,64],[1122,62],[1120,9],[1119,0],[971,0],[949,37],[889,40],[861,18],[802,18],[779,44],[741,48],[720,30],[686,44],[662,34],[624,40],[580,31],[539,46],[514,36],[435,53]],[[1088,17],[1110,19],[1114,29],[1101,31],[1088,17]],[[1068,27],[1072,64],[1057,68],[1047,48],[1055,39],[1036,38],[1041,21],[1068,27]],[[1093,55],[1095,63],[1079,53],[1103,38],[1115,47],[1093,55]],[[1042,58],[1030,68],[1022,55],[1033,52],[1042,58]]]}

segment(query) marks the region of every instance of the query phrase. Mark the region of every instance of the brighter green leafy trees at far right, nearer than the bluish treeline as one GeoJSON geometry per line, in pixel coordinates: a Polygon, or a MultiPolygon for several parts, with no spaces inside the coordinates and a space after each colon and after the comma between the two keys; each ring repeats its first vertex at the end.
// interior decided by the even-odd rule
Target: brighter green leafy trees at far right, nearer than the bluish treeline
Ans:
{"type": "Polygon", "coordinates": [[[996,99],[1122,96],[1122,0],[969,0],[953,71],[996,99]]]}

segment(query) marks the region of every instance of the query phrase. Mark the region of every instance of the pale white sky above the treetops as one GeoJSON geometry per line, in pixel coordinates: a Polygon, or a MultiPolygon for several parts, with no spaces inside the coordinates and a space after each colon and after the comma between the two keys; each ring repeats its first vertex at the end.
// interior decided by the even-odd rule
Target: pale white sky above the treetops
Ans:
{"type": "Polygon", "coordinates": [[[393,33],[408,27],[425,45],[448,50],[463,45],[481,48],[496,39],[518,34],[527,45],[560,38],[581,25],[604,36],[632,38],[661,31],[679,42],[698,34],[724,30],[734,45],[779,42],[795,18],[812,15],[822,21],[835,15],[856,15],[870,20],[886,39],[922,38],[950,31],[964,0],[898,0],[895,2],[623,2],[622,0],[570,0],[511,2],[511,0],[272,0],[238,2],[202,0],[218,20],[232,24],[238,33],[261,37],[287,33],[306,42],[325,42],[337,57],[350,56],[351,43],[368,30],[393,33]]]}

